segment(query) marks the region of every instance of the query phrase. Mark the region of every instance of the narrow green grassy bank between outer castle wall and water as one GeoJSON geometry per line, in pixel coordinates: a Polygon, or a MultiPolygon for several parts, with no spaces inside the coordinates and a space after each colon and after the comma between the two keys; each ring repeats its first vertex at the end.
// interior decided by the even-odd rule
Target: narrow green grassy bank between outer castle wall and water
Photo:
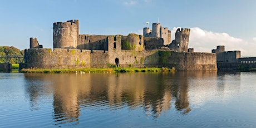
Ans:
{"type": "Polygon", "coordinates": [[[23,73],[83,73],[83,72],[163,72],[175,71],[171,68],[82,68],[82,69],[22,69],[23,73]]]}

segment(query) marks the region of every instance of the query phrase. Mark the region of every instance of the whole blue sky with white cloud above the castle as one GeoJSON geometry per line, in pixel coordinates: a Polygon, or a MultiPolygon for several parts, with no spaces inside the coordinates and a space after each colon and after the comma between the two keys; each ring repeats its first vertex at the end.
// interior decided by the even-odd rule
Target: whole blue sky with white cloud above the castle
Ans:
{"type": "MultiPolygon", "coordinates": [[[[211,52],[217,45],[242,56],[256,56],[256,1],[254,0],[1,0],[0,46],[29,48],[37,37],[53,47],[52,24],[80,20],[80,34],[142,34],[146,22],[159,22],[172,36],[178,27],[191,28],[189,47],[211,52]]],[[[174,37],[172,37],[174,40],[174,37]]]]}

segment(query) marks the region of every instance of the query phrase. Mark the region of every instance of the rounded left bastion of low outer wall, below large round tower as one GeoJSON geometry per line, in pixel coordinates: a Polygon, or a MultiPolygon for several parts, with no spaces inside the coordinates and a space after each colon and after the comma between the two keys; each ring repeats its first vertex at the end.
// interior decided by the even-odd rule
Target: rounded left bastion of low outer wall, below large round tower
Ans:
{"type": "Polygon", "coordinates": [[[79,68],[90,67],[90,50],[67,50],[64,48],[25,50],[27,68],[79,68]]]}

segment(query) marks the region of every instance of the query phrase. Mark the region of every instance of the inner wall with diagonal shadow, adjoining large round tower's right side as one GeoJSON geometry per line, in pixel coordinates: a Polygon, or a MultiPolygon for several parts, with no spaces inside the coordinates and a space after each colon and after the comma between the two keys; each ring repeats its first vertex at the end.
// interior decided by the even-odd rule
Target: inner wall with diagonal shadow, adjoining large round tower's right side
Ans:
{"type": "Polygon", "coordinates": [[[79,35],[77,49],[107,51],[107,36],[79,35]]]}

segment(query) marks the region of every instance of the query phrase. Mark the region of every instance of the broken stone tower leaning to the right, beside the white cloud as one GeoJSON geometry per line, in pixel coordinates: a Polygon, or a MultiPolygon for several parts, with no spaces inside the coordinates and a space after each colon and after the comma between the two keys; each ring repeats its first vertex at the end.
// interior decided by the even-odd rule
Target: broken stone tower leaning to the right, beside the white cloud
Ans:
{"type": "Polygon", "coordinates": [[[173,40],[169,48],[177,50],[178,52],[187,52],[189,46],[189,28],[178,28],[175,33],[175,40],[173,40]]]}

